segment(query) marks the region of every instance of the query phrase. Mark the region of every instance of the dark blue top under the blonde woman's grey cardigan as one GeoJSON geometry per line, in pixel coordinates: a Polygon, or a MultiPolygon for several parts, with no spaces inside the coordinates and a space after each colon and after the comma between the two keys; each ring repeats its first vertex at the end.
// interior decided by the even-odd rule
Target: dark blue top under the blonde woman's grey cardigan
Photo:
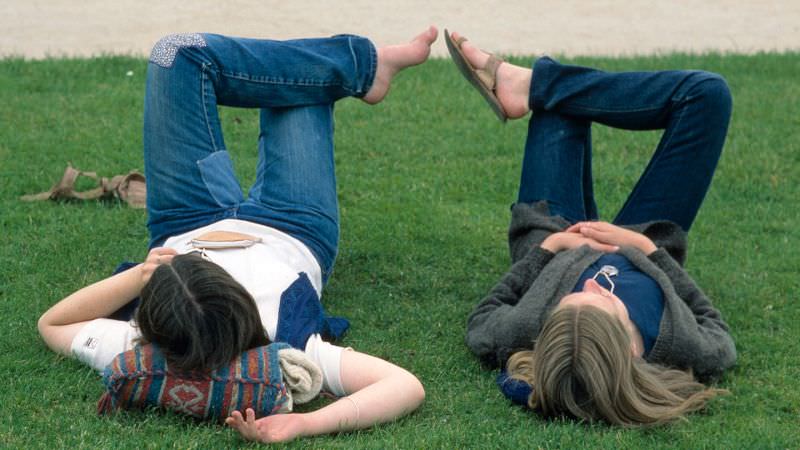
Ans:
{"type": "MultiPolygon", "coordinates": [[[[611,276],[614,282],[614,295],[628,308],[628,316],[642,334],[644,354],[647,355],[656,342],[661,316],[664,313],[664,293],[655,280],[634,266],[628,258],[609,253],[601,256],[581,274],[572,292],[581,291],[583,283],[607,265],[617,269],[617,274],[611,276]]],[[[599,275],[595,281],[606,289],[611,289],[603,275],[599,275]]]]}

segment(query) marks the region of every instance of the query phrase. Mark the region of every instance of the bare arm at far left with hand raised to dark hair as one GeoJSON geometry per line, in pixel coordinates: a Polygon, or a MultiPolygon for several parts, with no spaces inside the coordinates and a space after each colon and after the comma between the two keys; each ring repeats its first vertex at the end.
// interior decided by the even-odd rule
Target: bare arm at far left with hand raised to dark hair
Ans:
{"type": "Polygon", "coordinates": [[[86,286],[53,305],[39,318],[39,334],[45,344],[54,352],[70,354],[72,339],[87,322],[107,317],[136,298],[155,268],[174,254],[172,249],[155,248],[143,264],[86,286]]]}

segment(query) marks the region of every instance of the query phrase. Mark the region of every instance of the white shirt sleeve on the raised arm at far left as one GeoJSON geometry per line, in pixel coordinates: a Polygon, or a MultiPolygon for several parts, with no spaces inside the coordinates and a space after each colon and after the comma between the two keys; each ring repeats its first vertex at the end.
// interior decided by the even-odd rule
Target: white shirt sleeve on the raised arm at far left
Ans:
{"type": "Polygon", "coordinates": [[[72,339],[72,354],[80,362],[102,372],[115,356],[130,350],[139,335],[133,322],[95,319],[72,339]]]}

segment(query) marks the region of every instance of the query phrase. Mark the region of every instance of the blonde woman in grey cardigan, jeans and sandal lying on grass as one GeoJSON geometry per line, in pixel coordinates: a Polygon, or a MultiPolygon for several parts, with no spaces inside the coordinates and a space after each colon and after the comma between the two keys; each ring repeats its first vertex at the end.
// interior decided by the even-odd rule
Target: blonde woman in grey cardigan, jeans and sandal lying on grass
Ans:
{"type": "Polygon", "coordinates": [[[498,117],[532,111],[509,228],[512,266],[470,315],[469,348],[503,370],[507,396],[546,417],[640,426],[703,408],[720,390],[695,377],[721,374],[736,350],[682,264],[727,133],[725,81],[547,57],[531,70],[457,33],[445,38],[498,117]],[[598,221],[592,122],[664,130],[613,223],[598,221]]]}

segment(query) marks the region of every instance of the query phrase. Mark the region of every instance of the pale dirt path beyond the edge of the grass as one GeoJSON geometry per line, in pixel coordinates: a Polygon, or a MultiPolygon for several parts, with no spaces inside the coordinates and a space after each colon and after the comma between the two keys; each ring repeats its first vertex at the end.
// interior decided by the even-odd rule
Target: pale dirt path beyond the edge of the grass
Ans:
{"type": "MultiPolygon", "coordinates": [[[[146,55],[159,37],[194,31],[276,39],[348,32],[380,45],[431,23],[505,54],[800,50],[798,0],[0,0],[0,12],[0,55],[29,58],[146,55]]],[[[434,54],[445,54],[441,41],[434,54]]]]}

